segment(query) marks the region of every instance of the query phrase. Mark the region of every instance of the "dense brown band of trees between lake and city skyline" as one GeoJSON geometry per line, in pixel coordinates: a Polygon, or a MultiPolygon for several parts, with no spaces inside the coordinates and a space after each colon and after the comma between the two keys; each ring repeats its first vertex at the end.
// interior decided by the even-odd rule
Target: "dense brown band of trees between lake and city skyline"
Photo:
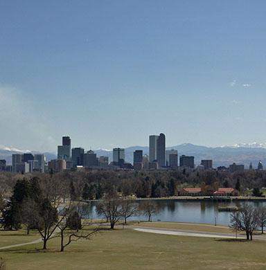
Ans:
{"type": "MultiPolygon", "coordinates": [[[[37,176],[45,181],[48,174],[0,174],[1,192],[10,197],[17,179],[30,179],[37,176]]],[[[210,188],[236,188],[240,194],[253,190],[256,196],[262,195],[261,188],[266,187],[265,171],[245,171],[230,174],[218,171],[107,171],[89,172],[60,172],[53,174],[55,181],[62,183],[64,193],[72,185],[72,196],[83,199],[100,199],[110,188],[123,196],[171,197],[179,194],[186,187],[201,187],[203,184],[210,188]]]]}

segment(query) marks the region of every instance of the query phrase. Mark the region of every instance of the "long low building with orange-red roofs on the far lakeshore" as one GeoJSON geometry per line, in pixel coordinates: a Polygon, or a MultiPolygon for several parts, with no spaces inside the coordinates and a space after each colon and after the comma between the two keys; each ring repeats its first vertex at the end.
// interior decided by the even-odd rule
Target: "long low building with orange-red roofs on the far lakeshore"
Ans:
{"type": "Polygon", "coordinates": [[[182,188],[179,196],[238,196],[239,192],[235,188],[218,188],[217,190],[209,190],[206,188],[182,188]]]}

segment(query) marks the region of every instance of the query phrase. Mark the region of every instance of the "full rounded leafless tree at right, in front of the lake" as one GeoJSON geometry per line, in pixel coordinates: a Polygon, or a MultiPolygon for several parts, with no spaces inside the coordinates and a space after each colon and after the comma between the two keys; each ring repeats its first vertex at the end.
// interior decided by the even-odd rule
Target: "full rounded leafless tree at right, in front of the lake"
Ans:
{"type": "Polygon", "coordinates": [[[253,232],[258,228],[258,210],[250,204],[244,204],[231,214],[231,228],[245,231],[247,240],[252,240],[253,232]]]}

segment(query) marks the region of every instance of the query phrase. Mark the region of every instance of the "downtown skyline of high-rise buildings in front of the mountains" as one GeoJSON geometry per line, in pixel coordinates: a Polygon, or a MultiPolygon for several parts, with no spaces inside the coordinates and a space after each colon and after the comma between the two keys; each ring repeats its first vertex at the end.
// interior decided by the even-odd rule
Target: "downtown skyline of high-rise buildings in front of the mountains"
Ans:
{"type": "MultiPolygon", "coordinates": [[[[82,147],[71,148],[71,138],[62,137],[62,145],[57,146],[57,159],[46,161],[44,154],[12,154],[12,165],[0,160],[0,171],[8,172],[62,172],[64,170],[211,170],[213,161],[204,159],[195,167],[194,156],[178,156],[177,150],[166,150],[166,136],[150,135],[149,155],[143,150],[135,150],[133,164],[125,161],[125,149],[113,149],[113,160],[109,163],[108,156],[96,156],[92,150],[85,152],[82,147]]],[[[252,164],[249,166],[253,170],[252,164]]],[[[244,165],[233,163],[229,168],[218,167],[217,170],[242,172],[244,165]]],[[[258,170],[263,170],[263,163],[258,163],[258,170]]]]}

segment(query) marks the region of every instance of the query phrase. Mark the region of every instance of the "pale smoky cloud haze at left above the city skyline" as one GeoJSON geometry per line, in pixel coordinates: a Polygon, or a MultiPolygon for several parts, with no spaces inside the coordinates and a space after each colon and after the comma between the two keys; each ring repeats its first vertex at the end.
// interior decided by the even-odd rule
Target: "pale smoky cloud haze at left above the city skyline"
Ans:
{"type": "Polygon", "coordinates": [[[0,85],[0,115],[1,143],[7,147],[12,144],[42,151],[55,144],[43,110],[19,89],[0,85]]]}

